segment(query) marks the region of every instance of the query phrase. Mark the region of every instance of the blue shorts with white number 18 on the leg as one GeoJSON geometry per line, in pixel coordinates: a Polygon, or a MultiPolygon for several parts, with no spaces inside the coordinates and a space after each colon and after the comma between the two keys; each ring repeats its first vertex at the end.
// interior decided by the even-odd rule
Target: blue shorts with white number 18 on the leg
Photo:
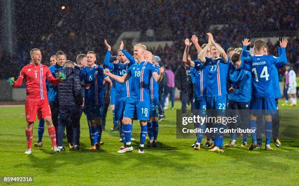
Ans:
{"type": "Polygon", "coordinates": [[[134,113],[136,114],[137,120],[149,120],[149,108],[150,103],[149,101],[134,101],[128,100],[125,111],[124,117],[134,119],[134,113]]]}

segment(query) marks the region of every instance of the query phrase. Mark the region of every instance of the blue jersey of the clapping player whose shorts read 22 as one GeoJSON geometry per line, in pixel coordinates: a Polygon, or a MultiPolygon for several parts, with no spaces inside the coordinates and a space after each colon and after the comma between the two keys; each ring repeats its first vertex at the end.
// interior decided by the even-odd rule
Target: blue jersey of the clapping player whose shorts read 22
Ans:
{"type": "Polygon", "coordinates": [[[206,62],[203,65],[204,80],[206,85],[206,96],[223,96],[227,95],[227,74],[229,68],[228,62],[218,58],[213,60],[206,57],[206,62]]]}

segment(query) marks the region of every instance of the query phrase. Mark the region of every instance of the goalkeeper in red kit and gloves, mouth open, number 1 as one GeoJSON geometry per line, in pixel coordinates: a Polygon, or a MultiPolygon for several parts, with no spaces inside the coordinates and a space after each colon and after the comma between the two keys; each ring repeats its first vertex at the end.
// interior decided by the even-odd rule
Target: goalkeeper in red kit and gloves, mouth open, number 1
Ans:
{"type": "Polygon", "coordinates": [[[55,128],[52,123],[45,80],[47,79],[53,85],[57,85],[60,81],[65,80],[66,77],[63,73],[59,74],[58,79],[52,76],[49,68],[41,64],[42,53],[38,48],[34,48],[30,51],[30,58],[31,63],[21,69],[21,74],[17,81],[14,81],[14,78],[8,79],[8,85],[14,87],[20,87],[24,80],[26,82],[25,116],[27,126],[25,134],[28,149],[25,151],[25,154],[31,154],[32,127],[36,120],[36,114],[38,114],[38,119],[44,119],[48,126],[53,151],[59,152],[60,149],[57,148],[56,145],[55,128]]]}

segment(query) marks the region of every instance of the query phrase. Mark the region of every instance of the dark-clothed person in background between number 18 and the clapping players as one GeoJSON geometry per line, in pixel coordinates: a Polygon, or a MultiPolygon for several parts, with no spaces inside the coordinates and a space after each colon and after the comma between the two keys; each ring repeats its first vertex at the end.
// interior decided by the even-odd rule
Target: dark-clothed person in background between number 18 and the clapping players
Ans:
{"type": "Polygon", "coordinates": [[[174,77],[175,86],[181,91],[181,101],[182,101],[182,116],[186,116],[187,103],[192,87],[189,65],[183,63],[179,66],[175,72],[174,77]]]}

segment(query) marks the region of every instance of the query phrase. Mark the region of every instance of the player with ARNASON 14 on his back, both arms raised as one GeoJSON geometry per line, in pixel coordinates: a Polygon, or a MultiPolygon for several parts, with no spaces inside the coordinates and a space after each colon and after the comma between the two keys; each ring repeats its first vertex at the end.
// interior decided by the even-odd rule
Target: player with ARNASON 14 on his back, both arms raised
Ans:
{"type": "MultiPolygon", "coordinates": [[[[273,78],[272,78],[272,64],[281,63],[286,64],[286,52],[285,47],[288,41],[283,39],[280,41],[281,57],[264,55],[263,40],[256,40],[254,43],[255,56],[246,57],[245,50],[250,44],[248,39],[243,41],[243,51],[241,54],[241,69],[252,72],[253,76],[253,99],[251,103],[252,113],[250,116],[250,128],[256,129],[256,116],[261,114],[260,110],[264,110],[265,128],[266,128],[266,150],[273,150],[270,146],[270,140],[272,137],[272,115],[277,113],[276,103],[273,96],[273,78]]],[[[252,133],[252,144],[249,146],[249,150],[256,148],[256,132],[252,133]]]]}

